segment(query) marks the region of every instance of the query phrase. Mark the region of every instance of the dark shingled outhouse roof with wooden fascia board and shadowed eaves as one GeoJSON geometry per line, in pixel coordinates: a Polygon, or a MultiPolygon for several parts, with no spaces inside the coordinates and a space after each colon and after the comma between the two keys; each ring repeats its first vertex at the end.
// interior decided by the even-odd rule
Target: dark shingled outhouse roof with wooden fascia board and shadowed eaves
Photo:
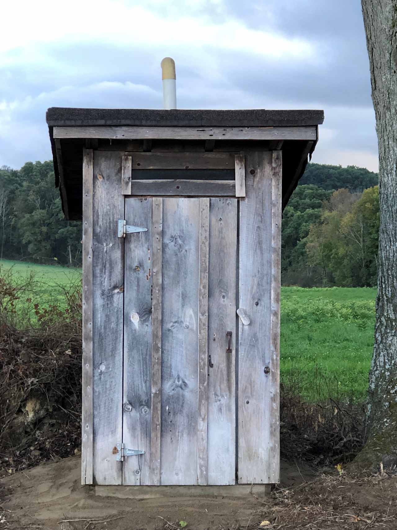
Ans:
{"type": "MultiPolygon", "coordinates": [[[[322,110],[73,109],[47,111],[56,185],[67,219],[82,219],[83,147],[127,140],[201,143],[202,151],[235,145],[283,151],[283,208],[318,141],[322,110]]],[[[143,147],[145,149],[145,147],[143,147]]]]}

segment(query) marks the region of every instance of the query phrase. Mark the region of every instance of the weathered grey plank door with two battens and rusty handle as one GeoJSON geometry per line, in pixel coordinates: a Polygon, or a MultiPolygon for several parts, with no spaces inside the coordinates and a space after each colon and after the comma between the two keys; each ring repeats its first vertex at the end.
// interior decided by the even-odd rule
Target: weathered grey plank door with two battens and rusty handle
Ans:
{"type": "Polygon", "coordinates": [[[123,443],[145,454],[122,483],[234,484],[237,199],[130,197],[124,218],[147,232],[124,240],[123,443]]]}

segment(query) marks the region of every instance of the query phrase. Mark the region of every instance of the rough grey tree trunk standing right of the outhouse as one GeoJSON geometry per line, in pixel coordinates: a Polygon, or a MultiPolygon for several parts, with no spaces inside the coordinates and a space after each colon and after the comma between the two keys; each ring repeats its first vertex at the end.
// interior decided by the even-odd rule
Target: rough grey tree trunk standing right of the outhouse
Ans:
{"type": "Polygon", "coordinates": [[[379,148],[380,233],[369,438],[358,462],[397,463],[397,0],[362,0],[379,148]]]}

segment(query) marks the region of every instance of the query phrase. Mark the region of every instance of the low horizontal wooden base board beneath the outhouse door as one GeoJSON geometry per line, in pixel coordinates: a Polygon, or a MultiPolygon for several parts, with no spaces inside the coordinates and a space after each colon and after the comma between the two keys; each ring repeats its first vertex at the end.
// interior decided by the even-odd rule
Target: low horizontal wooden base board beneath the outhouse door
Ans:
{"type": "Polygon", "coordinates": [[[120,499],[156,499],[172,497],[246,497],[263,498],[272,484],[236,484],[232,486],[95,486],[95,496],[120,499]]]}

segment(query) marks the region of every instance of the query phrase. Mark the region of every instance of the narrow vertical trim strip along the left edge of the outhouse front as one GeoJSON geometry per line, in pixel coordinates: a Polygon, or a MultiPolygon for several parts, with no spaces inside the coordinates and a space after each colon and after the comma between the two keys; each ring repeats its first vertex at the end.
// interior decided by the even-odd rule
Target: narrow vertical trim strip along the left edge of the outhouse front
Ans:
{"type": "Polygon", "coordinates": [[[83,149],[82,484],[93,483],[93,152],[83,149]]]}

